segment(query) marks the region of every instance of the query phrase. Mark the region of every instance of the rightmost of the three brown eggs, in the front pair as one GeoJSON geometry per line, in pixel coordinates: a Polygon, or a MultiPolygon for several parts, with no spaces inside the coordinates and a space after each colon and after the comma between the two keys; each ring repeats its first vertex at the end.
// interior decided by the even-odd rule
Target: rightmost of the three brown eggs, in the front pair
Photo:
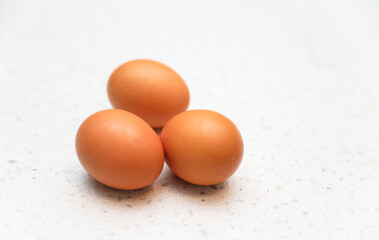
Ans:
{"type": "Polygon", "coordinates": [[[225,181],[239,167],[243,141],[228,118],[209,110],[191,110],[170,119],[161,141],[166,163],[183,180],[212,185],[225,181]]]}

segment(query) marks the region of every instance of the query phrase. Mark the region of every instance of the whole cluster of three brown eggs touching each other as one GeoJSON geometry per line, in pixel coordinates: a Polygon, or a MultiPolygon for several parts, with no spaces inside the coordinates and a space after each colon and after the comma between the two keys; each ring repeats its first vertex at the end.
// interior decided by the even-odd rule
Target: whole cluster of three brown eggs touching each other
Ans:
{"type": "Polygon", "coordinates": [[[108,81],[115,109],[88,117],[76,135],[86,171],[113,188],[153,183],[164,161],[183,180],[198,185],[225,181],[239,167],[243,141],[237,127],[210,110],[189,110],[189,91],[168,66],[133,60],[108,81]],[[162,128],[160,137],[153,128],[162,128]]]}

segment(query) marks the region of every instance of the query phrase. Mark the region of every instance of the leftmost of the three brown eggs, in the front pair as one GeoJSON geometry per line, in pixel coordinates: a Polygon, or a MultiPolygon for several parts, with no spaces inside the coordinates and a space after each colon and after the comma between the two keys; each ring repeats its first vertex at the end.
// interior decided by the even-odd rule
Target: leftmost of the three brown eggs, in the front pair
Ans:
{"type": "Polygon", "coordinates": [[[76,135],[76,153],[97,181],[118,189],[139,189],[162,171],[159,137],[141,118],[110,109],[88,117],[76,135]]]}

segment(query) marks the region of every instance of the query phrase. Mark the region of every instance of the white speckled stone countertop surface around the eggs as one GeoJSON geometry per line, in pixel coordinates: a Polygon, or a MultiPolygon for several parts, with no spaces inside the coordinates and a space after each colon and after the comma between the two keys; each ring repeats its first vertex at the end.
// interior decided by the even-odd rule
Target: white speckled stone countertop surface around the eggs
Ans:
{"type": "Polygon", "coordinates": [[[379,239],[377,1],[0,1],[0,239],[379,239]],[[124,61],[177,70],[245,141],[215,188],[140,191],[74,150],[124,61]]]}

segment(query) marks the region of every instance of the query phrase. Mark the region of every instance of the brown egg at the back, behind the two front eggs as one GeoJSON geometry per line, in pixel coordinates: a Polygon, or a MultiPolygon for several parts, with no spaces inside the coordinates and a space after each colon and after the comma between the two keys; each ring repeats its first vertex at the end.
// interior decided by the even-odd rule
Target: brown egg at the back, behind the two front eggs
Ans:
{"type": "Polygon", "coordinates": [[[152,60],[133,60],[119,66],[109,78],[108,96],[114,108],[132,112],[154,128],[162,127],[189,104],[183,79],[152,60]]]}

